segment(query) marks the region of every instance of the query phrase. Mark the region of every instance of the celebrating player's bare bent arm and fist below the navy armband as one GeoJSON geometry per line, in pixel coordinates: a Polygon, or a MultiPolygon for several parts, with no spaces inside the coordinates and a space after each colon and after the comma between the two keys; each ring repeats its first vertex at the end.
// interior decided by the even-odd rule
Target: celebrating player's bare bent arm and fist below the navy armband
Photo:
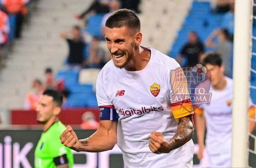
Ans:
{"type": "Polygon", "coordinates": [[[71,126],[61,134],[61,143],[76,152],[103,152],[110,150],[117,142],[117,122],[111,120],[100,121],[98,130],[89,138],[78,140],[71,126]]]}

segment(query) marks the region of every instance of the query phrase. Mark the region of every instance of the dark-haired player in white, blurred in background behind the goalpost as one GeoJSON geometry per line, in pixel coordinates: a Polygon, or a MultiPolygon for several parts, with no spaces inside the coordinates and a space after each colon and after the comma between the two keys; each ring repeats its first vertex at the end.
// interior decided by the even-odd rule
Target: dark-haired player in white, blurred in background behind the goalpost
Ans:
{"type": "MultiPolygon", "coordinates": [[[[201,104],[195,109],[196,130],[199,144],[197,157],[202,159],[204,151],[204,131],[207,123],[206,148],[210,167],[231,167],[232,146],[232,95],[233,80],[224,76],[225,68],[221,56],[209,53],[203,59],[203,64],[210,71],[211,102],[201,104]]],[[[254,115],[255,107],[249,101],[249,115],[254,115]]],[[[241,113],[243,113],[241,111],[241,113]]],[[[248,131],[252,132],[255,122],[249,121],[248,131]]]]}

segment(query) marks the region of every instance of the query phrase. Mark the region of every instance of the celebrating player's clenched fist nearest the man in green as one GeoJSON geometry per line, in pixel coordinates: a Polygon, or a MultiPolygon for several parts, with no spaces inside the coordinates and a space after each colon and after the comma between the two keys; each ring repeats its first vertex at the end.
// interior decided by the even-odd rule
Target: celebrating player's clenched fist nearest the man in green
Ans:
{"type": "Polygon", "coordinates": [[[71,126],[68,125],[67,129],[63,131],[63,133],[60,135],[60,140],[61,143],[68,148],[71,148],[77,152],[79,151],[81,142],[78,140],[78,137],[71,126]]]}

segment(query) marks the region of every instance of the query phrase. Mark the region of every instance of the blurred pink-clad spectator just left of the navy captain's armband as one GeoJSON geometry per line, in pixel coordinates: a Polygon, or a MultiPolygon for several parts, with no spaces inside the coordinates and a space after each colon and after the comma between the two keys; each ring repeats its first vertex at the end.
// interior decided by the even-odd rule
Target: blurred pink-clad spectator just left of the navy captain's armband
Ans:
{"type": "Polygon", "coordinates": [[[83,123],[80,125],[82,129],[90,130],[90,129],[98,129],[99,122],[95,121],[95,115],[91,111],[84,112],[82,115],[83,123]]]}

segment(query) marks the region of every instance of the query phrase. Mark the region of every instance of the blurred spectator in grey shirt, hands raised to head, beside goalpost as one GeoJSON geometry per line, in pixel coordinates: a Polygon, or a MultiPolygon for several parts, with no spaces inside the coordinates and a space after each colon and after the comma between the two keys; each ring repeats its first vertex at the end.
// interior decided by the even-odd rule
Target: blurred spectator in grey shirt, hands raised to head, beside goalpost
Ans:
{"type": "Polygon", "coordinates": [[[211,33],[206,40],[207,47],[216,49],[216,52],[222,56],[223,65],[225,67],[225,76],[231,77],[231,43],[229,41],[229,33],[226,29],[218,29],[211,33]],[[218,37],[218,42],[214,43],[213,40],[218,37]]]}

